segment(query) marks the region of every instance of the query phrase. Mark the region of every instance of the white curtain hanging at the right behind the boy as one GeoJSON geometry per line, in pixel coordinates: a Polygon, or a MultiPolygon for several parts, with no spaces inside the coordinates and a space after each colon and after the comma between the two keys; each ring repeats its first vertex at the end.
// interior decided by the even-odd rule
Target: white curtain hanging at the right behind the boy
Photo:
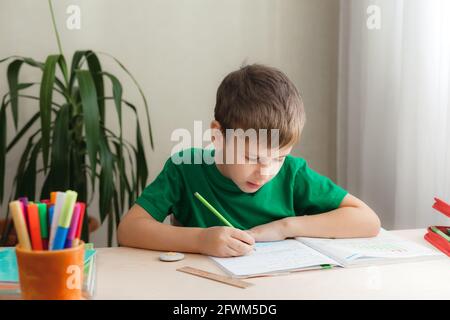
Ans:
{"type": "Polygon", "coordinates": [[[387,229],[450,225],[431,208],[450,202],[450,1],[342,0],[340,18],[338,182],[387,229]]]}

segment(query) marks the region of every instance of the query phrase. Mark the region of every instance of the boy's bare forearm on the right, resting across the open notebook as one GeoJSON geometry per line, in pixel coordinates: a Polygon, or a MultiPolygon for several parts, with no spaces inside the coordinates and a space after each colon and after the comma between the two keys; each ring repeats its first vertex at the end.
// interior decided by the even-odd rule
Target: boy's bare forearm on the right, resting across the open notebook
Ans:
{"type": "Polygon", "coordinates": [[[342,207],[322,214],[285,218],[281,223],[287,238],[373,237],[380,229],[380,220],[368,207],[342,207]]]}

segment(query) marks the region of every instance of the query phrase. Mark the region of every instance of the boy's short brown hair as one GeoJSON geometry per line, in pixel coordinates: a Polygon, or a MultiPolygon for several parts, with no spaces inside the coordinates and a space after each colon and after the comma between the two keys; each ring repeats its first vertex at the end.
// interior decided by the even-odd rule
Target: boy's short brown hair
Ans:
{"type": "MultiPolygon", "coordinates": [[[[279,147],[291,146],[306,121],[295,85],[281,71],[253,64],[228,74],[217,89],[214,118],[226,129],[279,130],[279,147]]],[[[268,141],[270,142],[270,141],[268,141]]]]}

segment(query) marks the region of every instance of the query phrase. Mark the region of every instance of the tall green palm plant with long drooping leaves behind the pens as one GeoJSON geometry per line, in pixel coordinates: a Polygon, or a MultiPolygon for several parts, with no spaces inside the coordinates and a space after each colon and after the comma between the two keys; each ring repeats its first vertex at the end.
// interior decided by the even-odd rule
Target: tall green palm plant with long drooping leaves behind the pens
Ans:
{"type": "MultiPolygon", "coordinates": [[[[59,53],[49,55],[44,62],[19,56],[0,60],[0,63],[10,61],[7,67],[9,91],[4,94],[0,106],[0,203],[3,203],[5,196],[6,156],[19,141],[27,139],[10,188],[10,200],[19,196],[35,199],[37,177],[42,175],[44,183],[40,192],[41,199],[48,198],[50,191],[71,189],[78,192],[80,201],[91,203],[98,182],[100,221],[103,223],[108,219],[108,244],[111,245],[113,228],[145,187],[148,167],[138,110],[123,98],[119,79],[102,69],[99,56],[113,59],[139,90],[153,149],[147,101],[136,79],[120,61],[108,54],[91,50],[76,51],[68,68],[52,2],[48,2],[59,53]],[[20,82],[19,72],[22,66],[40,70],[41,81],[20,82]],[[111,95],[105,92],[105,81],[111,83],[111,95]],[[38,95],[30,93],[33,87],[39,89],[38,95]],[[19,129],[22,99],[36,101],[39,110],[19,129]],[[16,130],[10,141],[6,130],[8,109],[16,130]],[[105,113],[111,112],[110,109],[114,109],[117,114],[118,133],[107,127],[105,113]],[[122,115],[125,110],[136,115],[135,123],[132,124],[132,128],[136,130],[134,143],[127,141],[122,135],[122,115]],[[34,125],[38,120],[40,126],[34,125]],[[37,167],[39,156],[42,157],[42,168],[37,167]]],[[[8,216],[7,212],[6,221],[10,220],[8,216]]],[[[87,220],[84,219],[86,223],[83,226],[85,241],[89,237],[87,220]]],[[[1,242],[6,241],[11,228],[12,223],[4,228],[1,242]]]]}

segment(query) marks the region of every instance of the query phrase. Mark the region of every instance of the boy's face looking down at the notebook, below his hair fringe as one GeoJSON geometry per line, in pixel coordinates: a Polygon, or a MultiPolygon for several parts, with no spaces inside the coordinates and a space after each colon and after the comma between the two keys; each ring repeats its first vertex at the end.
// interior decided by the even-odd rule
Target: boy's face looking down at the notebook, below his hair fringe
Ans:
{"type": "Polygon", "coordinates": [[[234,143],[228,140],[223,142],[222,147],[216,146],[216,166],[246,193],[258,191],[276,176],[292,150],[292,146],[270,149],[265,144],[258,146],[258,142],[248,139],[232,139],[235,139],[234,143]],[[240,146],[239,142],[242,143],[240,146]]]}

